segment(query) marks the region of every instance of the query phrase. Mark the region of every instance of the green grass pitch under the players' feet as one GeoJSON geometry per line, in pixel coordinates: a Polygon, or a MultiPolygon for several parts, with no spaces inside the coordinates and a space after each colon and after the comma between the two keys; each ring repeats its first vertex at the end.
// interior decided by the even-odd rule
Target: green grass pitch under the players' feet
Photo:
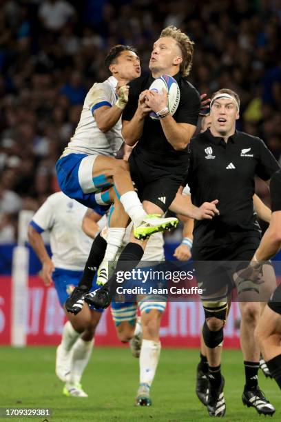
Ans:
{"type": "MultiPolygon", "coordinates": [[[[51,408],[52,417],[0,418],[1,421],[209,421],[207,409],[195,392],[198,350],[161,350],[152,387],[152,407],[134,406],[138,387],[138,359],[126,348],[95,348],[83,376],[88,399],[63,396],[63,383],[54,374],[55,348],[0,348],[0,408],[51,408]]],[[[261,421],[253,408],[242,405],[244,386],[242,354],[223,352],[227,413],[225,422],[261,421]]],[[[280,390],[259,372],[264,390],[281,420],[280,390]]],[[[213,420],[213,419],[211,419],[213,420]]]]}

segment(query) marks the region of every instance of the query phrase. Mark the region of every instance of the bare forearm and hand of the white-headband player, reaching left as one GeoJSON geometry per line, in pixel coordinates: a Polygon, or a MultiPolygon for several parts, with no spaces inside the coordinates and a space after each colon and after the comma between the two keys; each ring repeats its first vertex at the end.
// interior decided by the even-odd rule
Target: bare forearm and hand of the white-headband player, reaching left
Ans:
{"type": "Polygon", "coordinates": [[[169,210],[195,220],[211,220],[220,214],[218,208],[216,208],[217,204],[218,199],[215,199],[212,202],[204,202],[200,207],[196,207],[191,202],[190,195],[182,195],[178,192],[174,201],[169,206],[169,210]]]}

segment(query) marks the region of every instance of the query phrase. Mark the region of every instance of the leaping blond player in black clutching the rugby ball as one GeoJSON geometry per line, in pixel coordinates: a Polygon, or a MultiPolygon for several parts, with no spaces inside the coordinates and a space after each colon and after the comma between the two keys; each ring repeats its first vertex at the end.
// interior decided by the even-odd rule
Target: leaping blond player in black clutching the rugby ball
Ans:
{"type": "MultiPolygon", "coordinates": [[[[187,145],[196,130],[200,111],[198,92],[186,79],[191,70],[193,44],[177,28],[165,28],[154,43],[149,61],[151,73],[129,83],[122,133],[125,143],[131,146],[137,143],[129,157],[129,168],[138,196],[149,213],[163,215],[167,211],[187,169],[187,145]],[[167,92],[149,91],[154,79],[162,74],[174,77],[180,89],[180,102],[173,116],[167,107],[167,92]],[[152,111],[158,120],[149,117],[152,111]]],[[[132,208],[131,196],[132,192],[128,192],[121,198],[127,214],[132,208]]],[[[145,232],[139,238],[145,239],[145,232]]],[[[146,243],[147,240],[139,241],[132,236],[118,259],[116,272],[130,270],[133,262],[141,261],[146,243]]],[[[106,261],[112,261],[111,250],[107,245],[105,265],[106,261]]],[[[116,274],[113,274],[96,292],[92,303],[105,308],[115,291],[116,274]]]]}

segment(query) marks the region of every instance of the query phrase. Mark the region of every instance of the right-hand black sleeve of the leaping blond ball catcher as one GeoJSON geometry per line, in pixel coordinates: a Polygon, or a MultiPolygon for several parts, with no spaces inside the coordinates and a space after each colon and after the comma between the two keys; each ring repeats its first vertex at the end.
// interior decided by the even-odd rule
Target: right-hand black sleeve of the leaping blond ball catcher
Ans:
{"type": "Polygon", "coordinates": [[[184,98],[183,102],[180,102],[176,121],[196,126],[201,106],[199,94],[195,89],[189,89],[183,92],[182,95],[184,98]]]}

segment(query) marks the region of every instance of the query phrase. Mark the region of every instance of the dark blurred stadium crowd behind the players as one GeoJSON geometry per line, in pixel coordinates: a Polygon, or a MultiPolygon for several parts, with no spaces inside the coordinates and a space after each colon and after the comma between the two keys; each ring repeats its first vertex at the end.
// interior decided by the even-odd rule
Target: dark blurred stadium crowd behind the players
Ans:
{"type": "Polygon", "coordinates": [[[280,160],[280,0],[0,0],[0,243],[16,238],[21,208],[58,189],[54,164],[87,90],[107,78],[105,52],[133,45],[146,70],[171,24],[196,43],[198,91],[238,92],[239,129],[280,160]]]}

